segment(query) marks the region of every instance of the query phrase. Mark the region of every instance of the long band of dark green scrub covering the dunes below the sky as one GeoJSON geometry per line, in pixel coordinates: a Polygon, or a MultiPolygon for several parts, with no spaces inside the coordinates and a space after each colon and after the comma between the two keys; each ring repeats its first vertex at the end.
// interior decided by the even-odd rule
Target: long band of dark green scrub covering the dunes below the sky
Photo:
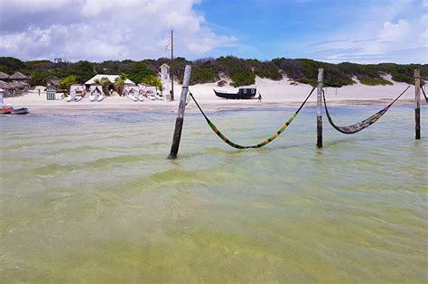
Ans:
{"type": "Polygon", "coordinates": [[[256,76],[280,80],[283,75],[295,81],[315,86],[320,68],[324,69],[324,85],[327,87],[352,85],[355,83],[354,78],[369,86],[390,85],[392,82],[384,78],[386,74],[391,74],[395,81],[410,84],[414,81],[414,69],[420,69],[422,79],[428,79],[428,64],[381,63],[363,65],[349,62],[331,64],[316,60],[285,58],[269,61],[244,60],[233,56],[193,61],[178,57],[174,60],[167,58],[141,61],[107,60],[100,63],[88,61],[53,63],[49,60],[23,62],[11,57],[0,57],[0,71],[7,74],[21,71],[23,74],[30,75],[32,85],[44,84],[42,80],[50,75],[59,78],[75,75],[79,83],[84,83],[96,74],[121,73],[126,74],[126,77],[135,83],[140,83],[157,76],[159,67],[163,63],[171,67],[173,78],[179,82],[184,75],[184,67],[186,64],[191,64],[191,84],[215,82],[219,80],[220,75],[224,75],[231,78],[232,85],[236,87],[255,84],[256,76]]]}

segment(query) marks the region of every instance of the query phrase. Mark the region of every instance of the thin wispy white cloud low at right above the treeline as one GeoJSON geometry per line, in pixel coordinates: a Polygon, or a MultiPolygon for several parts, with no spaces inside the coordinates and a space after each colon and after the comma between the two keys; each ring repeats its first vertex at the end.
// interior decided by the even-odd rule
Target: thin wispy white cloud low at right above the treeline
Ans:
{"type": "Polygon", "coordinates": [[[377,29],[362,29],[349,38],[312,44],[314,56],[331,62],[353,61],[374,63],[394,61],[426,63],[428,61],[428,16],[413,21],[386,21],[377,29]]]}

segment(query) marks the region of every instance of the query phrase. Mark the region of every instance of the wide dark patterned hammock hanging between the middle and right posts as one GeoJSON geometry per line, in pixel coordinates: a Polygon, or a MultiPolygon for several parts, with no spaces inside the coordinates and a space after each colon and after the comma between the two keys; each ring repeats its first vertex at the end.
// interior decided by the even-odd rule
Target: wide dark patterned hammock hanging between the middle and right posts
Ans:
{"type": "Polygon", "coordinates": [[[370,117],[366,118],[365,120],[363,120],[362,122],[358,123],[358,124],[351,124],[348,126],[339,126],[337,124],[334,124],[333,120],[331,119],[330,113],[329,113],[329,109],[327,108],[327,103],[325,101],[325,95],[324,95],[324,91],[322,91],[322,97],[324,99],[324,108],[325,108],[325,114],[327,115],[327,118],[329,119],[329,123],[331,124],[331,126],[336,129],[337,131],[339,131],[340,133],[345,133],[345,134],[354,134],[354,133],[358,133],[361,130],[368,128],[368,126],[370,126],[371,124],[374,124],[377,122],[377,120],[382,117],[382,115],[385,115],[385,113],[388,111],[389,107],[391,107],[392,105],[394,105],[394,103],[405,94],[405,92],[411,87],[412,85],[409,85],[408,87],[405,88],[405,90],[397,97],[395,97],[395,100],[389,104],[386,105],[385,108],[381,109],[380,111],[378,111],[375,115],[371,115],[370,117]]]}

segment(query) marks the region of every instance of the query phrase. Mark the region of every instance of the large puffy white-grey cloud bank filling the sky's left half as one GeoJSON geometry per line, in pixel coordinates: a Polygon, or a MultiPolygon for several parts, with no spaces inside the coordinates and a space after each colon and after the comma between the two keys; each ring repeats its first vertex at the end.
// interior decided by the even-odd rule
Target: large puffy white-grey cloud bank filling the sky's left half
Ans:
{"type": "MultiPolygon", "coordinates": [[[[178,56],[200,57],[237,44],[219,35],[193,6],[198,0],[5,0],[21,26],[0,20],[0,54],[23,60],[124,60],[168,56],[171,28],[178,56]],[[47,3],[49,2],[49,3],[47,3]],[[3,23],[3,24],[2,24],[3,23]]],[[[9,16],[10,17],[10,16],[9,16]]]]}

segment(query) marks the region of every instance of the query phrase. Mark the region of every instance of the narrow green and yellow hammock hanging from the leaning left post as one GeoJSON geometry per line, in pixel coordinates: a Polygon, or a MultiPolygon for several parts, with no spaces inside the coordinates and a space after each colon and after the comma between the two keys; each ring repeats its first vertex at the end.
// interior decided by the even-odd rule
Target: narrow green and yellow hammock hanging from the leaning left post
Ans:
{"type": "Polygon", "coordinates": [[[288,125],[290,125],[294,118],[299,114],[299,112],[302,110],[303,105],[306,104],[306,102],[308,101],[309,97],[312,95],[313,90],[316,87],[312,88],[311,93],[309,93],[308,96],[306,96],[305,100],[303,101],[302,105],[300,105],[300,107],[297,109],[297,111],[290,117],[290,119],[283,125],[283,127],[281,127],[281,129],[279,129],[276,133],[274,133],[274,135],[268,139],[266,139],[264,142],[260,142],[258,144],[255,145],[251,145],[251,146],[243,146],[243,145],[239,145],[235,142],[231,142],[228,137],[226,137],[223,133],[220,133],[219,129],[216,127],[216,125],[214,125],[209,118],[207,117],[207,115],[205,115],[205,113],[203,112],[202,108],[200,107],[200,104],[198,104],[198,102],[196,101],[195,97],[191,94],[191,92],[189,91],[189,94],[191,96],[191,98],[193,99],[193,101],[195,102],[196,106],[198,106],[199,110],[200,110],[200,114],[203,115],[203,117],[205,118],[205,120],[207,121],[207,123],[209,124],[209,127],[212,129],[212,131],[214,133],[216,133],[219,138],[223,141],[226,142],[229,146],[233,147],[233,148],[237,148],[237,149],[250,149],[250,148],[261,148],[265,145],[267,145],[270,142],[273,142],[274,139],[276,137],[278,137],[281,133],[284,132],[284,130],[288,127],[288,125]]]}

